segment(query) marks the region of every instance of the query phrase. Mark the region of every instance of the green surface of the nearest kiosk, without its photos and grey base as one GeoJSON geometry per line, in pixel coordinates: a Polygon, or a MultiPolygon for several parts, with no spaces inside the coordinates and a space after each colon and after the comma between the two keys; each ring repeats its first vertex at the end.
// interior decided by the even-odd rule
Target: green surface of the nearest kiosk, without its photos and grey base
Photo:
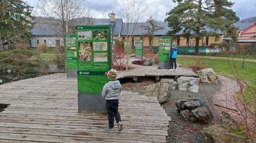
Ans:
{"type": "Polygon", "coordinates": [[[105,83],[108,83],[108,77],[105,72],[110,70],[110,28],[109,25],[77,25],[76,26],[76,50],[77,50],[77,82],[79,93],[101,93],[105,83]],[[92,31],[91,40],[79,40],[78,32],[92,31]],[[106,31],[106,40],[94,40],[94,31],[106,31]],[[80,62],[79,60],[79,42],[91,42],[92,44],[92,62],[80,62]],[[94,51],[93,42],[107,42],[106,51],[94,51]],[[94,53],[107,53],[107,62],[94,62],[94,53]]]}

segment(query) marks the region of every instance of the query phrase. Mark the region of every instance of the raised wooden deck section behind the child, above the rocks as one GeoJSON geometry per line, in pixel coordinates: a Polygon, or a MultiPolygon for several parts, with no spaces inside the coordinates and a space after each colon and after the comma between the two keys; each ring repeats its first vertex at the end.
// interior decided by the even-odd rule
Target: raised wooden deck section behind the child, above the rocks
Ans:
{"type": "Polygon", "coordinates": [[[192,76],[197,77],[196,73],[192,70],[183,67],[177,67],[177,71],[169,71],[166,69],[158,69],[158,65],[153,66],[139,66],[133,64],[133,69],[128,71],[118,72],[118,79],[125,77],[133,77],[134,80],[137,80],[137,77],[151,76],[156,77],[158,80],[160,77],[180,77],[180,76],[192,76]]]}

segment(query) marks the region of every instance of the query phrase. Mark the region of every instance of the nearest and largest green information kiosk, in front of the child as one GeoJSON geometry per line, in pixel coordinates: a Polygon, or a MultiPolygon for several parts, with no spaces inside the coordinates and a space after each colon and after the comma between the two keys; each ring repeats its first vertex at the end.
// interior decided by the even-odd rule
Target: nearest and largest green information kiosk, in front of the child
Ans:
{"type": "Polygon", "coordinates": [[[76,26],[79,112],[106,112],[101,91],[109,81],[106,73],[112,67],[112,41],[111,24],[76,26]]]}

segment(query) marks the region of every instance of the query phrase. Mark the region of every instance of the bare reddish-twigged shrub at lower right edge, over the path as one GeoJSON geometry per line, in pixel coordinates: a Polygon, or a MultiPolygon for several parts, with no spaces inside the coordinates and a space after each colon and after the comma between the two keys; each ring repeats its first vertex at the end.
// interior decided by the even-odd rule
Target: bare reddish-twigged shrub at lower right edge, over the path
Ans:
{"type": "MultiPolygon", "coordinates": [[[[255,142],[256,111],[250,109],[244,94],[245,89],[247,89],[247,92],[250,92],[250,96],[253,97],[255,100],[255,89],[250,90],[250,85],[246,84],[245,80],[243,80],[243,78],[241,77],[240,73],[237,70],[236,64],[230,64],[230,68],[232,70],[234,80],[236,80],[237,85],[234,85],[234,88],[227,89],[223,93],[224,98],[219,99],[217,101],[217,106],[221,107],[222,109],[225,109],[225,111],[228,112],[232,116],[232,118],[234,118],[234,120],[236,120],[239,123],[238,127],[241,127],[242,131],[245,131],[246,136],[249,138],[249,140],[251,142],[255,142]],[[234,67],[234,70],[232,66],[234,67]],[[238,93],[236,92],[236,88],[240,89],[238,93]],[[241,101],[238,98],[241,98],[241,101]]],[[[254,106],[256,107],[256,102],[254,102],[254,106]]]]}

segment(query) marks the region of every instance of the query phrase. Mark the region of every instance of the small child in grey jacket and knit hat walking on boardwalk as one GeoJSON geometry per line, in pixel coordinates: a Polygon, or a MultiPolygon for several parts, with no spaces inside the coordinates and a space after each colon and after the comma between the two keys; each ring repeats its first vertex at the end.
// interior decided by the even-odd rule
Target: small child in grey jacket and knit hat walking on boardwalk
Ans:
{"type": "Polygon", "coordinates": [[[123,124],[121,122],[121,116],[118,112],[118,101],[121,93],[121,84],[117,78],[117,71],[112,68],[108,72],[109,83],[105,84],[102,89],[102,98],[106,100],[106,109],[108,112],[109,127],[107,130],[110,133],[114,132],[114,118],[117,122],[118,131],[122,131],[123,124]]]}

